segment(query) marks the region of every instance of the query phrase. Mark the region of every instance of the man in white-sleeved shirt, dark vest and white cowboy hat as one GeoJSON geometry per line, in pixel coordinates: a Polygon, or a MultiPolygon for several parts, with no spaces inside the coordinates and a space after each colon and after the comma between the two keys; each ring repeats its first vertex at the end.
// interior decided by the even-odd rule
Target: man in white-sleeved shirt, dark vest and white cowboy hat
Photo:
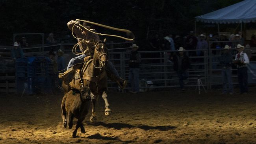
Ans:
{"type": "Polygon", "coordinates": [[[244,49],[244,46],[237,44],[236,50],[238,53],[233,61],[233,63],[237,66],[237,78],[239,82],[240,94],[247,94],[248,92],[247,64],[249,64],[250,61],[247,54],[243,52],[244,49]]]}

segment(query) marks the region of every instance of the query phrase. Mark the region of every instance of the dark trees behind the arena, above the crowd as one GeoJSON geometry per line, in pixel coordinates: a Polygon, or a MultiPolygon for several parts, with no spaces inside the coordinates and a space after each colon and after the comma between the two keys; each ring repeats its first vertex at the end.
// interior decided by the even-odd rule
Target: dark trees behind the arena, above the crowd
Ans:
{"type": "MultiPolygon", "coordinates": [[[[83,19],[128,29],[143,44],[148,35],[170,31],[184,35],[194,17],[242,0],[0,0],[0,45],[12,44],[13,33],[71,34],[69,20],[83,19]]],[[[96,27],[100,33],[120,34],[96,27]]],[[[122,39],[109,38],[114,41],[122,39]]]]}

